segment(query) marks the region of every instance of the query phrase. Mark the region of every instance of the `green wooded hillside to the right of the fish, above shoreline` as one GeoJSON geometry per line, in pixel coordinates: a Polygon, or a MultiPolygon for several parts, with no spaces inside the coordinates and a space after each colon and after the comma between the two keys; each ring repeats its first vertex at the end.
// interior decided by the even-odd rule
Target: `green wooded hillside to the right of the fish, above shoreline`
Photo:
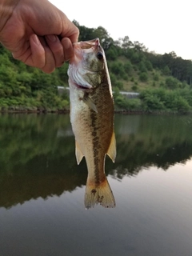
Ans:
{"type": "Polygon", "coordinates": [[[174,51],[156,54],[128,36],[114,41],[108,32],[80,26],[80,40],[100,38],[106,51],[116,109],[142,112],[188,113],[192,110],[192,62],[174,51]],[[126,86],[127,85],[127,86],[126,86]],[[140,92],[127,99],[119,90],[140,92]]]}

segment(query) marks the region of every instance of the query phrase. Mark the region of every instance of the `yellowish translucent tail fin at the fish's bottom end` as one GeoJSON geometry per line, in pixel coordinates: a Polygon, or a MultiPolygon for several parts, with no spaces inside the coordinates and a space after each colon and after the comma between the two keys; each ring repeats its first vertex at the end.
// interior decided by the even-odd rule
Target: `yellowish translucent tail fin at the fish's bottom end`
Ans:
{"type": "Polygon", "coordinates": [[[106,208],[115,207],[114,195],[110,189],[110,184],[107,181],[106,175],[104,176],[104,180],[99,184],[90,182],[89,176],[87,178],[85,194],[86,209],[92,208],[98,203],[106,208]]]}

